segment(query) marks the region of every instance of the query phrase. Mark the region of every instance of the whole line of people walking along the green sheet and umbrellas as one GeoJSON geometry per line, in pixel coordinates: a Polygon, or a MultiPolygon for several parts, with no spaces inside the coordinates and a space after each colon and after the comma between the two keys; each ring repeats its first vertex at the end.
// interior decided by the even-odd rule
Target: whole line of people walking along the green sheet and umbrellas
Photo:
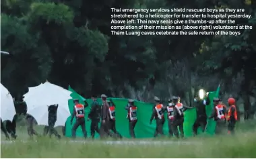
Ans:
{"type": "MultiPolygon", "coordinates": [[[[92,96],[92,106],[90,113],[88,114],[88,119],[91,120],[90,131],[91,136],[94,138],[95,133],[100,134],[100,138],[105,138],[106,136],[114,138],[122,138],[121,134],[117,131],[115,121],[115,103],[110,99],[107,100],[106,95],[101,95],[102,106],[96,100],[96,96],[92,96]],[[101,121],[101,122],[100,122],[101,121]],[[100,127],[98,127],[98,123],[100,127]]],[[[164,106],[158,97],[154,97],[155,105],[152,109],[152,116],[150,117],[150,124],[153,119],[156,120],[156,130],[154,137],[164,136],[163,125],[165,123],[164,111],[167,112],[168,120],[168,133],[169,136],[176,136],[177,138],[184,137],[183,122],[184,122],[184,111],[186,109],[192,109],[193,107],[187,107],[181,103],[180,97],[172,97],[168,100],[168,105],[164,106]]],[[[193,125],[193,132],[195,136],[197,135],[197,130],[199,127],[205,131],[207,127],[207,115],[205,110],[205,105],[210,104],[210,99],[206,96],[205,99],[201,100],[199,97],[195,97],[195,108],[197,111],[197,119],[193,125]]],[[[88,103],[85,101],[85,105],[79,103],[79,100],[74,99],[74,109],[71,115],[71,125],[73,123],[73,118],[76,117],[75,124],[72,127],[72,137],[75,138],[75,132],[77,127],[81,126],[84,133],[84,138],[87,138],[86,132],[86,119],[84,109],[88,107],[88,103]]],[[[228,134],[234,134],[234,126],[237,121],[237,111],[235,100],[233,98],[228,99],[228,105],[230,108],[227,110],[226,105],[218,98],[214,98],[214,108],[212,114],[208,119],[214,119],[216,121],[216,134],[222,134],[224,127],[226,127],[226,122],[228,122],[228,134]]],[[[43,136],[49,133],[51,137],[55,134],[57,138],[61,138],[58,132],[55,130],[54,125],[57,120],[57,109],[58,105],[50,105],[49,110],[49,126],[44,127],[43,136]]],[[[125,106],[127,110],[127,119],[129,122],[129,134],[131,138],[135,138],[134,128],[137,123],[137,106],[134,104],[134,100],[129,99],[128,104],[125,106]]],[[[27,115],[28,122],[28,135],[29,136],[40,136],[33,127],[34,117],[27,115]]],[[[1,121],[1,130],[5,133],[6,138],[9,138],[5,127],[3,127],[3,122],[1,121]]],[[[16,138],[15,132],[9,130],[12,138],[16,138]]]]}

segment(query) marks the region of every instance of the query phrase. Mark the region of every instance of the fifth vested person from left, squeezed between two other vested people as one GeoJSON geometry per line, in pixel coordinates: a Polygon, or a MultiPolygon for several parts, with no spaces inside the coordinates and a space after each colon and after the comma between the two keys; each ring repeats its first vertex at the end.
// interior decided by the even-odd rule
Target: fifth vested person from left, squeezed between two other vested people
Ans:
{"type": "Polygon", "coordinates": [[[172,131],[172,127],[173,127],[172,124],[174,119],[174,104],[172,103],[172,99],[168,100],[168,106],[166,107],[166,111],[167,111],[169,135],[170,137],[172,137],[174,135],[172,131]]]}

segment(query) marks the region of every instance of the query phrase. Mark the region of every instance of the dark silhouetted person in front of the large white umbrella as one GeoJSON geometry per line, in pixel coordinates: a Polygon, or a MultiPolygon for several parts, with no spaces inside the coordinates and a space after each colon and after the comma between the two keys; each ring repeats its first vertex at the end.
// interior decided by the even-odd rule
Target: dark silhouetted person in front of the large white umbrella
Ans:
{"type": "Polygon", "coordinates": [[[50,105],[48,106],[48,125],[49,126],[45,126],[44,127],[44,136],[46,136],[46,134],[48,134],[48,132],[50,131],[50,138],[52,136],[52,134],[55,134],[55,136],[57,138],[61,138],[61,136],[58,134],[57,130],[54,128],[54,125],[57,121],[57,109],[58,109],[59,105],[50,105]]]}

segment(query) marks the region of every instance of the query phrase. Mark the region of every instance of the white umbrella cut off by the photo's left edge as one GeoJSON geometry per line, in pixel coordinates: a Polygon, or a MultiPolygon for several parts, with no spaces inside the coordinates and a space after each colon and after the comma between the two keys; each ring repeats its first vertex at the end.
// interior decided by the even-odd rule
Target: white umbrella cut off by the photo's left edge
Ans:
{"type": "Polygon", "coordinates": [[[13,97],[9,91],[1,84],[1,119],[12,121],[16,114],[13,97]]]}

